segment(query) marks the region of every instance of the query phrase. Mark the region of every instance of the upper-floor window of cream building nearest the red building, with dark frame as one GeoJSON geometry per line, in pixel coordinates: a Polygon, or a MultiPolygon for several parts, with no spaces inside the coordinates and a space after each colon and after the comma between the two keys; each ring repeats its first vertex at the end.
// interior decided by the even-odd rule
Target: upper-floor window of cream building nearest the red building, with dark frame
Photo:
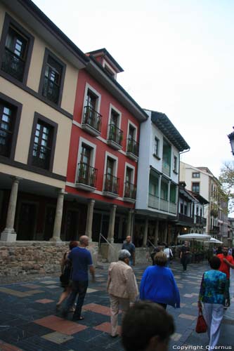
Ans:
{"type": "Polygon", "coordinates": [[[53,53],[46,49],[41,71],[39,93],[46,100],[60,105],[65,79],[65,65],[53,53]]]}

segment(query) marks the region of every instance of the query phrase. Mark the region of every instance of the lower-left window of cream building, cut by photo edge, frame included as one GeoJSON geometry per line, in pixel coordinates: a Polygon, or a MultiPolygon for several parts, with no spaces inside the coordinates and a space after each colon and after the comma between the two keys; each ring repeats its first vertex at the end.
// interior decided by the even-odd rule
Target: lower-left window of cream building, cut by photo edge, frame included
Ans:
{"type": "Polygon", "coordinates": [[[0,93],[0,156],[13,159],[22,105],[0,93]]]}

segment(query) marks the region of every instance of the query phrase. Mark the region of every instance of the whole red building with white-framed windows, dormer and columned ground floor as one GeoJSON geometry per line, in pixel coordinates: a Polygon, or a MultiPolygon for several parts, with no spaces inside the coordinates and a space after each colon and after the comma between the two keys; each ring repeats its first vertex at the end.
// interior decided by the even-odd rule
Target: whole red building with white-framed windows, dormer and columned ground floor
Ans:
{"type": "Polygon", "coordinates": [[[117,83],[123,70],[110,53],[104,48],[87,55],[77,82],[67,166],[67,239],[86,234],[99,241],[101,233],[122,242],[133,227],[140,124],[148,116],[117,83]]]}

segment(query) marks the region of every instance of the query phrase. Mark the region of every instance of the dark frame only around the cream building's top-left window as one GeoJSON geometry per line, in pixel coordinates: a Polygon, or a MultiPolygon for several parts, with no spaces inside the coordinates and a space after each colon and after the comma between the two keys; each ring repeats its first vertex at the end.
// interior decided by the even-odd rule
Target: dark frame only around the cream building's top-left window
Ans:
{"type": "Polygon", "coordinates": [[[29,73],[29,69],[30,69],[30,62],[31,62],[31,58],[32,58],[33,45],[34,45],[34,37],[32,36],[32,34],[27,32],[27,30],[25,28],[23,28],[21,25],[19,25],[18,22],[16,22],[13,18],[11,18],[10,15],[8,15],[8,13],[6,13],[5,19],[4,19],[4,27],[3,27],[2,32],[1,32],[1,41],[0,41],[0,72],[1,72],[1,75],[3,77],[6,77],[12,83],[17,83],[17,84],[20,83],[23,86],[26,86],[27,77],[28,77],[28,73],[29,73]],[[3,69],[1,69],[2,58],[4,55],[4,51],[5,51],[6,37],[7,37],[8,31],[9,31],[9,28],[11,26],[15,27],[15,29],[17,29],[18,32],[22,33],[22,35],[28,39],[27,55],[26,55],[26,59],[25,59],[25,69],[24,69],[22,81],[16,79],[11,74],[8,74],[3,69]]]}

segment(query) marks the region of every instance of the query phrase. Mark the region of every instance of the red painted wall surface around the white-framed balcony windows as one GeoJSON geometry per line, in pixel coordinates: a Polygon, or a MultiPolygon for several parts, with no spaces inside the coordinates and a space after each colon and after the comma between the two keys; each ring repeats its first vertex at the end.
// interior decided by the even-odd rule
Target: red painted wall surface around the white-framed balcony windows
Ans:
{"type": "MultiPolygon", "coordinates": [[[[136,141],[139,140],[139,131],[140,124],[138,120],[128,111],[124,106],[122,106],[119,101],[117,101],[108,91],[105,90],[104,86],[101,86],[98,81],[93,79],[84,69],[79,71],[79,77],[77,82],[77,92],[76,92],[76,100],[74,104],[74,121],[77,121],[79,124],[82,123],[82,114],[83,114],[83,105],[84,105],[84,93],[86,83],[88,83],[92,88],[94,88],[100,95],[100,114],[102,115],[102,125],[101,125],[101,138],[107,139],[108,134],[108,119],[110,112],[110,104],[119,110],[122,113],[121,117],[121,125],[120,129],[122,129],[124,135],[122,140],[122,150],[126,151],[126,137],[128,133],[128,123],[131,121],[138,130],[138,135],[136,141]]],[[[112,149],[109,145],[103,143],[103,141],[98,140],[98,138],[93,137],[79,126],[75,124],[72,125],[72,134],[70,140],[70,154],[68,159],[67,166],[67,182],[74,183],[76,170],[77,170],[77,157],[78,157],[78,147],[79,147],[79,138],[85,138],[89,140],[91,143],[96,145],[96,159],[94,167],[98,169],[97,190],[100,192],[103,191],[103,176],[105,174],[105,152],[108,151],[110,154],[115,155],[118,158],[118,167],[117,167],[117,177],[119,178],[119,196],[123,196],[124,191],[124,168],[125,162],[131,164],[135,167],[135,180],[134,184],[136,185],[136,176],[137,176],[137,162],[132,161],[129,157],[126,157],[121,152],[112,149]]],[[[126,207],[134,207],[133,204],[126,203],[125,201],[119,201],[117,199],[109,199],[108,197],[103,197],[100,194],[94,194],[90,192],[85,192],[82,190],[74,189],[73,187],[66,187],[67,192],[71,192],[73,194],[80,194],[83,197],[93,198],[93,199],[102,199],[106,202],[110,202],[112,204],[118,204],[119,206],[126,207]]]]}

